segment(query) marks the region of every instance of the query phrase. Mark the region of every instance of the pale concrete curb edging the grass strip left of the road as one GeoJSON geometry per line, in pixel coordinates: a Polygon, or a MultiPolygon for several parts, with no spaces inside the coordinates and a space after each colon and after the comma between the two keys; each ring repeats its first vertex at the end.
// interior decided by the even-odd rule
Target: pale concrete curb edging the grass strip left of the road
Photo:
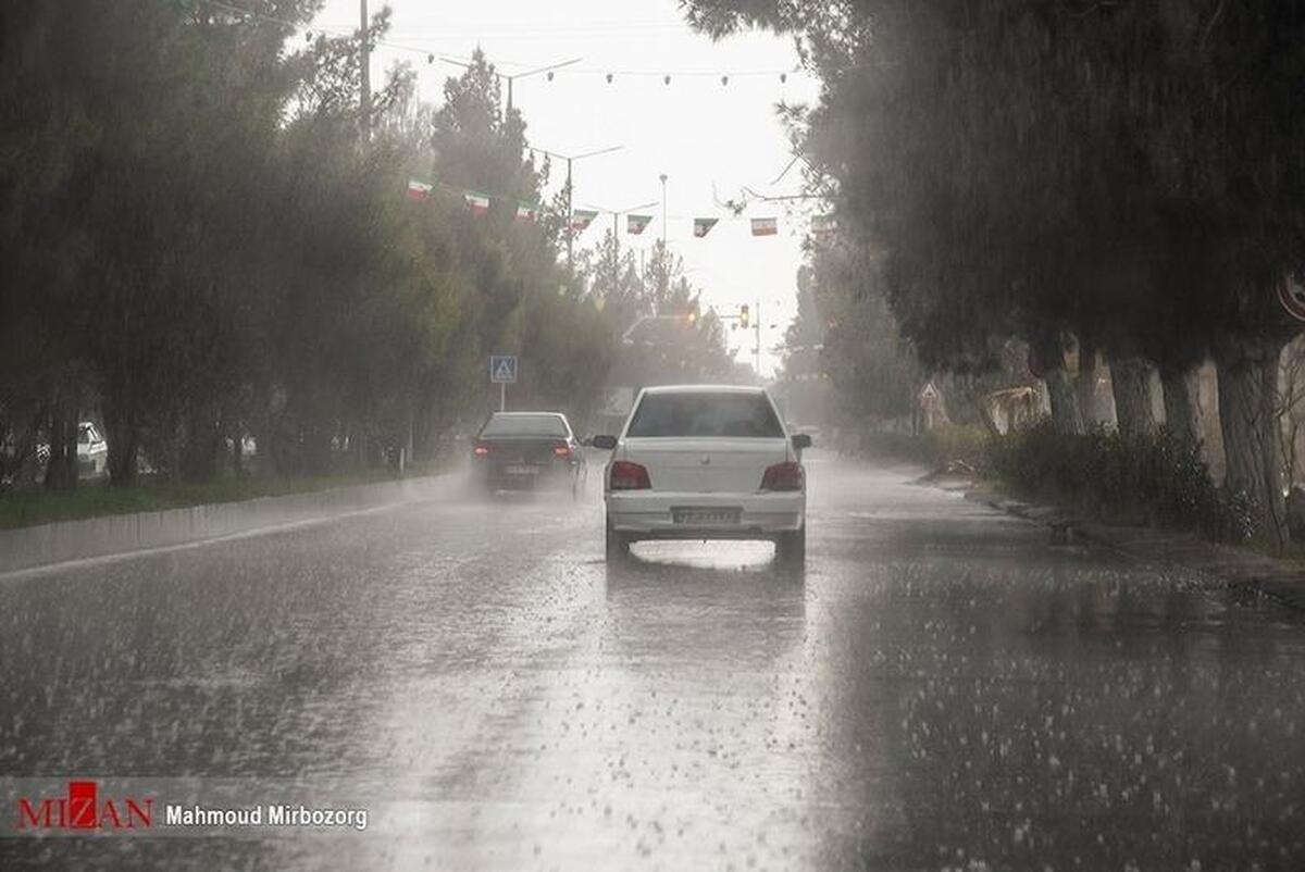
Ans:
{"type": "Polygon", "coordinates": [[[0,530],[0,574],[223,539],[420,500],[449,474],[0,530]]]}

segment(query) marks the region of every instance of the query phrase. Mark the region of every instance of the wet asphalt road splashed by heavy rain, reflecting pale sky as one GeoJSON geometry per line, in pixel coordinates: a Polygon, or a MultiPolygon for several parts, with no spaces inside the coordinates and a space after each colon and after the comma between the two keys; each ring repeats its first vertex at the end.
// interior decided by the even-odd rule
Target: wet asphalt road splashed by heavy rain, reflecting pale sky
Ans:
{"type": "Polygon", "coordinates": [[[372,808],[360,834],[0,838],[0,868],[1305,868],[1298,615],[910,470],[809,469],[804,574],[752,543],[616,569],[596,495],[450,487],[0,578],[0,775],[372,808]]]}

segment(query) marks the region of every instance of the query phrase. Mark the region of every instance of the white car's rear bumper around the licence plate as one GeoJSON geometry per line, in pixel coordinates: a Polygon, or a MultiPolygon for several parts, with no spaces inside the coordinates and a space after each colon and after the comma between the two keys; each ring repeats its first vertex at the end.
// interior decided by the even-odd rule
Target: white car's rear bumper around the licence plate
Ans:
{"type": "Polygon", "coordinates": [[[800,491],[697,493],[609,491],[607,521],[633,539],[758,539],[800,530],[806,495],[800,491]],[[737,523],[676,522],[673,509],[740,509],[737,523]]]}

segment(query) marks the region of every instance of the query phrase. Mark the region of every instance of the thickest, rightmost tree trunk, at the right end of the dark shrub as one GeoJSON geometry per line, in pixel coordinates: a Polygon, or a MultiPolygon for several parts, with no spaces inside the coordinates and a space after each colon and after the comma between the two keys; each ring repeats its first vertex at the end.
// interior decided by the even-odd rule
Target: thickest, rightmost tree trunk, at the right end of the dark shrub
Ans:
{"type": "Polygon", "coordinates": [[[1259,529],[1275,548],[1288,540],[1276,414],[1282,349],[1283,343],[1272,339],[1228,343],[1216,362],[1225,483],[1250,495],[1259,529]]]}

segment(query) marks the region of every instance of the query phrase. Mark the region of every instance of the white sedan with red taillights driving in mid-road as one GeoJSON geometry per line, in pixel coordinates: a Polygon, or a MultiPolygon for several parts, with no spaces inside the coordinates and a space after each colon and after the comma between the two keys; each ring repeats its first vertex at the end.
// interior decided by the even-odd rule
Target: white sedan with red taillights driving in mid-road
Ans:
{"type": "Polygon", "coordinates": [[[639,392],[620,436],[595,436],[607,555],[642,539],[766,539],[780,560],[806,555],[801,449],[761,388],[684,385],[639,392]]]}

